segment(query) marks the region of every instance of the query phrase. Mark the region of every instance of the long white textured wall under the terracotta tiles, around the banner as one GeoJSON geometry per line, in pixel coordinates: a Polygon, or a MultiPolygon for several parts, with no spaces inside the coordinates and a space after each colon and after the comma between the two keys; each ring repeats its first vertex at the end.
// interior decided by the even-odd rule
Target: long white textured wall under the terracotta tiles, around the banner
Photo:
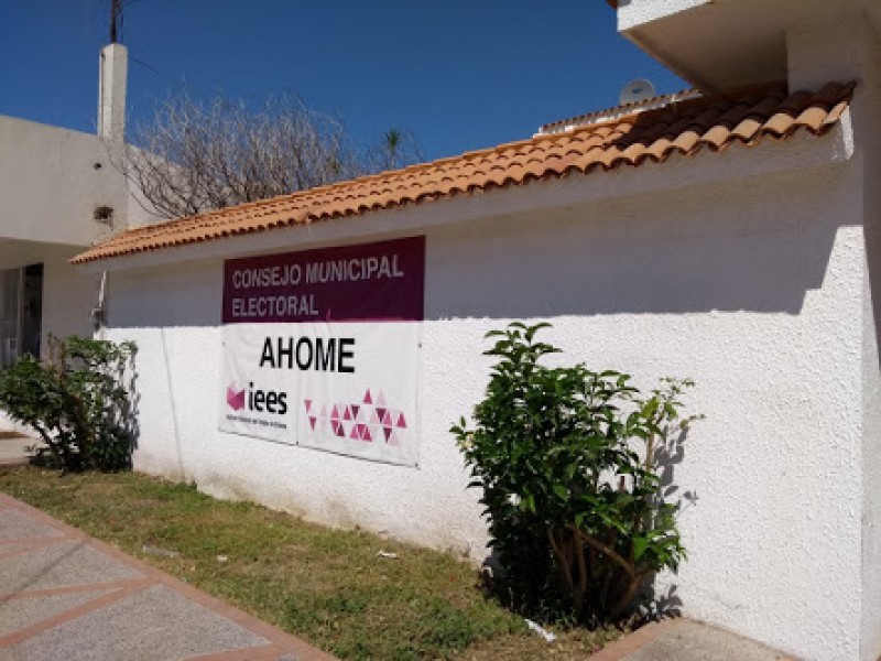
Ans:
{"type": "MultiPolygon", "coordinates": [[[[757,153],[742,158],[758,163],[757,153]]],[[[736,167],[741,156],[725,158],[736,167]]],[[[698,177],[721,162],[704,154],[653,172],[698,177]]],[[[605,191],[620,176],[638,174],[591,175],[587,185],[605,191]]],[[[659,587],[675,585],[685,614],[791,653],[852,659],[863,498],[859,177],[853,163],[701,185],[678,176],[666,192],[427,227],[418,469],[219,433],[222,262],[113,272],[109,336],[140,347],[135,466],[479,559],[477,494],[465,488],[448,429],[486,386],[483,334],[548,319],[547,338],[567,360],[629,371],[644,387],[666,375],[697,381],[690,410],[706,420],[673,466],[696,496],[682,514],[689,560],[659,587]]],[[[548,186],[565,199],[581,184],[548,186]]],[[[480,204],[501,209],[516,195],[530,193],[480,204]]],[[[445,204],[432,207],[444,215],[458,203],[445,204]]],[[[357,223],[367,235],[402,217],[357,223]]],[[[279,232],[273,250],[328,243],[319,236],[279,232]]]]}

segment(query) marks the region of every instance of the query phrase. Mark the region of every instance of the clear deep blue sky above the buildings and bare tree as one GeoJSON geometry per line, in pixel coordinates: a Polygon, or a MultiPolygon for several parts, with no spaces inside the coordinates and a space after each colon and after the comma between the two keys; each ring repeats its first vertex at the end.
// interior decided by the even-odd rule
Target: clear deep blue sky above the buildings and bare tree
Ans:
{"type": "MultiPolygon", "coordinates": [[[[0,0],[0,113],[94,131],[109,0],[0,0]]],[[[361,144],[411,131],[437,159],[687,87],[616,31],[603,0],[129,0],[129,115],[186,90],[295,94],[361,144]]]]}

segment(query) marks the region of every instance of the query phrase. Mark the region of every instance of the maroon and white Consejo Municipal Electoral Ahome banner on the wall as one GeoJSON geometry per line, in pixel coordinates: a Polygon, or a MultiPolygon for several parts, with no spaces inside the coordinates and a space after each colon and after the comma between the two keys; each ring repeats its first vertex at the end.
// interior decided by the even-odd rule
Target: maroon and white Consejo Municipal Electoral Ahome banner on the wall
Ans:
{"type": "Polygon", "coordinates": [[[227,260],[220,430],[418,460],[425,237],[227,260]]]}

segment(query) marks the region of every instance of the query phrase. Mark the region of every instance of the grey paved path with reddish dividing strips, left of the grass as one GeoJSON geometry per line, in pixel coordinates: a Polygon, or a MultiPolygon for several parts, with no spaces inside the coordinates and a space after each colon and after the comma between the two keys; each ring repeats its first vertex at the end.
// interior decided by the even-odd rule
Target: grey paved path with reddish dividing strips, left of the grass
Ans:
{"type": "Polygon", "coordinates": [[[0,494],[0,659],[334,658],[0,494]]]}

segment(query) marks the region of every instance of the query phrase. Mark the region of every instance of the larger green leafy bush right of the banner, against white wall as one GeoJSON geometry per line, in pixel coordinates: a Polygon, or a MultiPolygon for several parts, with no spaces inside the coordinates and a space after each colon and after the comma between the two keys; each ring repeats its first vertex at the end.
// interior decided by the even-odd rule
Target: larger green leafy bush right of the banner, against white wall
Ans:
{"type": "Polygon", "coordinates": [[[616,621],[685,557],[657,451],[693,420],[678,413],[693,383],[666,379],[643,398],[628,375],[539,365],[559,353],[534,339],[548,325],[487,335],[498,362],[476,426],[452,432],[482,488],[500,594],[536,617],[616,621]]]}

